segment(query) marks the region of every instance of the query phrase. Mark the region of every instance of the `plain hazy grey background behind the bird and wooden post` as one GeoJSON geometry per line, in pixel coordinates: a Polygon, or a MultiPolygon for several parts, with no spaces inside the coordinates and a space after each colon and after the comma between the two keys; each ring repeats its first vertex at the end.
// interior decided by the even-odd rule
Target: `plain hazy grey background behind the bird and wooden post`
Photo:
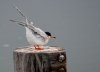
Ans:
{"type": "Polygon", "coordinates": [[[28,45],[17,5],[35,25],[57,36],[49,45],[66,48],[68,72],[100,72],[100,0],[0,0],[0,72],[13,71],[13,50],[28,45]]]}

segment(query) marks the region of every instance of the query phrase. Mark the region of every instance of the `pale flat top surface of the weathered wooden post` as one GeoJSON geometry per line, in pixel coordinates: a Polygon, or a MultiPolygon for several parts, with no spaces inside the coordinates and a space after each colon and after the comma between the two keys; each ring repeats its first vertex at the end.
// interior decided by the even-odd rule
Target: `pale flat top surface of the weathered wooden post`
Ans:
{"type": "Polygon", "coordinates": [[[14,52],[21,53],[55,53],[55,52],[64,52],[65,49],[56,46],[45,46],[43,50],[35,50],[34,47],[19,47],[14,50],[14,52]]]}

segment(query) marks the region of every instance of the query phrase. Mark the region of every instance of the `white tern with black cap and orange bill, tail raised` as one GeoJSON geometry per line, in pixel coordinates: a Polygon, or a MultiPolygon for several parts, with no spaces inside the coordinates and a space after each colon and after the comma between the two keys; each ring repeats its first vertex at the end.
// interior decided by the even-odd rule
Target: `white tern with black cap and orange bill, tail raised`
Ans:
{"type": "Polygon", "coordinates": [[[44,32],[42,29],[35,27],[33,22],[28,21],[27,17],[16,7],[17,11],[25,18],[25,22],[19,22],[15,20],[10,20],[12,22],[17,22],[26,29],[26,38],[30,45],[34,46],[37,50],[42,50],[44,45],[46,45],[50,38],[56,38],[51,35],[50,32],[44,32]]]}

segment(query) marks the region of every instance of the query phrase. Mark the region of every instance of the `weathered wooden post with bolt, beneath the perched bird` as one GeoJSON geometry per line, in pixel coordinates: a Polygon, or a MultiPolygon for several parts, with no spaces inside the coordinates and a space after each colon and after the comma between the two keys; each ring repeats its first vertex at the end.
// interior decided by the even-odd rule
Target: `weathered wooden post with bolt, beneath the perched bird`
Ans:
{"type": "Polygon", "coordinates": [[[13,56],[14,72],[67,72],[67,57],[63,48],[17,48],[13,56]]]}

